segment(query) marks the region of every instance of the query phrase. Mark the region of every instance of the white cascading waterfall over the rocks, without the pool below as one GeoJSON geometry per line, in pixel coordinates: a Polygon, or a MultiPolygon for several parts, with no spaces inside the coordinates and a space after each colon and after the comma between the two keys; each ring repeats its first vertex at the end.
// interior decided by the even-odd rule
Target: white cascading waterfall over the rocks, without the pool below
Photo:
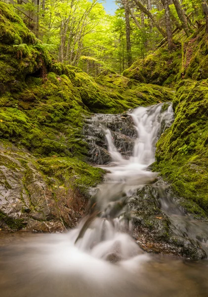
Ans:
{"type": "Polygon", "coordinates": [[[88,214],[73,231],[73,236],[75,233],[77,236],[75,244],[83,251],[112,261],[128,259],[142,252],[128,235],[132,225],[127,201],[138,188],[152,183],[157,177],[148,166],[155,160],[155,144],[162,121],[173,119],[171,105],[164,113],[161,113],[162,106],[138,107],[129,112],[137,137],[128,159],[116,147],[111,130],[100,121],[99,115],[97,125],[101,124],[105,133],[112,163],[103,167],[109,173],[104,183],[98,186],[88,214]]]}

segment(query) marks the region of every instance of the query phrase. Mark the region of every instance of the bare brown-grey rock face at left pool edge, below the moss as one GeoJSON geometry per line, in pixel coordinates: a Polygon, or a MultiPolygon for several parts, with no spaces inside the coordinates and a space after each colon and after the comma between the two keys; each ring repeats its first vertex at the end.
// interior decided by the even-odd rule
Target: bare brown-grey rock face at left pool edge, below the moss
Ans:
{"type": "Polygon", "coordinates": [[[88,199],[66,179],[44,176],[28,151],[0,145],[0,228],[64,231],[77,225],[88,199]]]}

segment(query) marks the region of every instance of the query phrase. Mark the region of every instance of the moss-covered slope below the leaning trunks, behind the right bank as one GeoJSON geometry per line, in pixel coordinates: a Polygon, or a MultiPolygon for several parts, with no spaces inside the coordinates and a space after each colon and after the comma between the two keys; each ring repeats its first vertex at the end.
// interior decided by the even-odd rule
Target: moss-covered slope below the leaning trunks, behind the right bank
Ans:
{"type": "Polygon", "coordinates": [[[141,83],[174,86],[181,79],[208,78],[208,40],[202,26],[186,38],[183,32],[174,37],[176,49],[167,46],[139,59],[126,69],[124,76],[141,83]]]}

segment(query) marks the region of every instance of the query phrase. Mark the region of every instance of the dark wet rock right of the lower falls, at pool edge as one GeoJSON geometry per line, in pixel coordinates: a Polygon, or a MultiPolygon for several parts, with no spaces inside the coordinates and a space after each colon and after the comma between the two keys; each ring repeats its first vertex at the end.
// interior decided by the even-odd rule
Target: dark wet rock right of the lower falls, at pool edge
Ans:
{"type": "MultiPolygon", "coordinates": [[[[136,195],[128,201],[133,213],[133,237],[139,246],[148,252],[172,254],[192,259],[206,258],[205,247],[202,245],[203,240],[200,243],[197,235],[193,234],[194,226],[203,222],[193,222],[192,220],[190,222],[190,217],[183,216],[183,214],[177,217],[175,213],[171,213],[171,209],[163,209],[161,200],[163,195],[157,186],[157,184],[148,185],[139,189],[136,195]],[[182,221],[179,222],[179,219],[182,221]],[[183,228],[192,234],[185,233],[183,228]]],[[[166,195],[168,196],[167,192],[166,195]]],[[[171,208],[171,202],[167,204],[171,208]]],[[[179,208],[177,204],[174,204],[172,209],[177,211],[179,208]]],[[[202,228],[203,226],[198,226],[195,233],[197,234],[202,228]]]]}

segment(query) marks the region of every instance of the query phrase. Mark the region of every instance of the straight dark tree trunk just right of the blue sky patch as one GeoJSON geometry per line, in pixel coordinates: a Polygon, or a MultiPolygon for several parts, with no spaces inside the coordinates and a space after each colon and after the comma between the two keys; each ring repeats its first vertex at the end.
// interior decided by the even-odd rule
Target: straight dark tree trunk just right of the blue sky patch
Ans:
{"type": "Polygon", "coordinates": [[[123,0],[125,9],[125,36],[126,36],[126,53],[127,53],[127,66],[130,67],[132,64],[132,53],[131,53],[131,37],[130,37],[130,18],[128,9],[128,0],[123,0]]]}

